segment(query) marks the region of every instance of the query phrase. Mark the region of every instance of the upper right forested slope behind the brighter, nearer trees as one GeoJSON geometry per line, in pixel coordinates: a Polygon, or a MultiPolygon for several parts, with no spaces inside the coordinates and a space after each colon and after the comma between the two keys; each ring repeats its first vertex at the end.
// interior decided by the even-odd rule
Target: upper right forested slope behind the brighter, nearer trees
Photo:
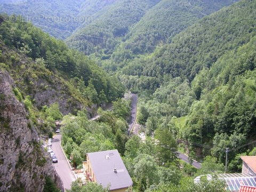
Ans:
{"type": "Polygon", "coordinates": [[[121,70],[120,74],[125,74],[123,81],[133,84],[134,91],[141,87],[136,87],[138,83],[132,76],[154,78],[156,84],[174,77],[193,81],[203,67],[211,67],[221,55],[249,42],[255,35],[255,6],[255,1],[241,1],[204,17],[173,37],[170,44],[129,63],[121,70]]]}

